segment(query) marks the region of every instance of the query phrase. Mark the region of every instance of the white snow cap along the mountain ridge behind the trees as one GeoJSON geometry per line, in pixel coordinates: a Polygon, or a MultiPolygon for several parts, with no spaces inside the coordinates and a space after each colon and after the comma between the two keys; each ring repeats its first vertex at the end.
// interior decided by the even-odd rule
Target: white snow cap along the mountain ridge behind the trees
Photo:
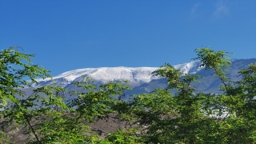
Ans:
{"type": "MultiPolygon", "coordinates": [[[[198,68],[200,62],[188,62],[174,66],[175,69],[180,70],[182,74],[190,73],[195,74],[202,67],[198,68]]],[[[106,83],[110,81],[129,80],[130,83],[141,85],[142,83],[150,82],[153,79],[159,79],[151,73],[158,70],[158,67],[99,67],[99,68],[85,68],[78,70],[70,70],[65,73],[59,74],[46,79],[37,79],[38,84],[34,86],[45,86],[51,83],[58,83],[60,86],[67,86],[73,81],[82,80],[82,76],[94,78],[97,82],[106,83]]]]}

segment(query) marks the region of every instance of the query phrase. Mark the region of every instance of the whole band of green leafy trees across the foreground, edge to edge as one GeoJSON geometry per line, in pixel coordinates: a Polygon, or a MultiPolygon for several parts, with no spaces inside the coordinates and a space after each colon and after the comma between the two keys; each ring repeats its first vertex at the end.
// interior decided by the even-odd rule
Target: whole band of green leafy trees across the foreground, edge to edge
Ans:
{"type": "Polygon", "coordinates": [[[6,125],[0,143],[10,142],[5,133],[10,125],[28,127],[27,143],[256,143],[256,65],[239,72],[241,81],[231,82],[225,69],[230,53],[208,48],[195,52],[194,60],[222,81],[222,94],[197,92],[190,83],[200,81],[200,76],[182,76],[166,63],[153,73],[167,79],[166,89],[123,102],[117,97],[130,88],[122,82],[97,87],[91,78],[84,78],[73,83],[81,91],[70,94],[77,97],[64,102],[56,92],[66,90],[57,85],[39,87],[26,96],[22,88],[30,87],[30,82],[24,78],[36,83],[35,78],[50,78],[49,71],[30,62],[33,54],[22,54],[16,47],[2,50],[0,118],[6,125]],[[129,126],[101,139],[89,124],[110,114],[129,126]]]}

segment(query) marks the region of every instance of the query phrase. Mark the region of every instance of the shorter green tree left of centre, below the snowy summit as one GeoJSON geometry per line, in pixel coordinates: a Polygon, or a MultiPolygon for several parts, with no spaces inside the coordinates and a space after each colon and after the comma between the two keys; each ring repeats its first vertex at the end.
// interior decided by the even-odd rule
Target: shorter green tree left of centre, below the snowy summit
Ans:
{"type": "Polygon", "coordinates": [[[80,91],[70,91],[75,98],[67,102],[70,111],[63,114],[51,114],[49,121],[38,126],[38,133],[43,143],[96,143],[103,142],[91,130],[90,123],[98,119],[107,118],[114,113],[115,96],[122,90],[130,90],[120,82],[110,82],[102,86],[95,86],[94,80],[85,77],[81,82],[73,82],[80,91]]]}

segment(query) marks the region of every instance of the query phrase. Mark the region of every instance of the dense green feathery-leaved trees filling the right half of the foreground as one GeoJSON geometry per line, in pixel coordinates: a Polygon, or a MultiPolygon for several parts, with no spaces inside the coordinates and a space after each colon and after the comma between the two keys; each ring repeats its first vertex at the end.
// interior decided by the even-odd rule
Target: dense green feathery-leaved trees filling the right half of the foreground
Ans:
{"type": "Polygon", "coordinates": [[[239,72],[231,82],[225,69],[231,62],[225,51],[195,50],[200,66],[220,78],[222,94],[203,94],[191,86],[198,75],[182,76],[166,63],[153,74],[166,78],[166,90],[138,94],[128,103],[123,120],[139,123],[146,143],[254,143],[256,130],[256,66],[239,72]],[[174,91],[174,93],[172,93],[174,91]]]}

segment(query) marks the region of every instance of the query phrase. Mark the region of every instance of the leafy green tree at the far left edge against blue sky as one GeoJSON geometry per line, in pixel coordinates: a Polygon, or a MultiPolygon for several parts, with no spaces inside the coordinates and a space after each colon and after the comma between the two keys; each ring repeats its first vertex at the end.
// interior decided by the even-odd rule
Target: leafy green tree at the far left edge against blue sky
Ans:
{"type": "MultiPolygon", "coordinates": [[[[32,133],[38,143],[42,143],[36,133],[34,125],[35,118],[41,118],[51,107],[60,106],[67,109],[62,98],[55,97],[54,91],[63,91],[58,86],[44,86],[34,90],[34,93],[27,96],[22,91],[24,87],[31,87],[30,83],[36,82],[36,78],[51,78],[49,70],[30,61],[34,54],[23,54],[18,47],[0,51],[0,118],[8,125],[28,126],[27,133],[32,133]],[[30,82],[26,79],[30,79],[30,82]],[[46,94],[46,97],[42,97],[46,94]],[[41,103],[38,106],[37,103],[41,103]]],[[[2,130],[5,126],[2,126],[2,130]]],[[[5,141],[5,140],[4,140],[5,141]]]]}

